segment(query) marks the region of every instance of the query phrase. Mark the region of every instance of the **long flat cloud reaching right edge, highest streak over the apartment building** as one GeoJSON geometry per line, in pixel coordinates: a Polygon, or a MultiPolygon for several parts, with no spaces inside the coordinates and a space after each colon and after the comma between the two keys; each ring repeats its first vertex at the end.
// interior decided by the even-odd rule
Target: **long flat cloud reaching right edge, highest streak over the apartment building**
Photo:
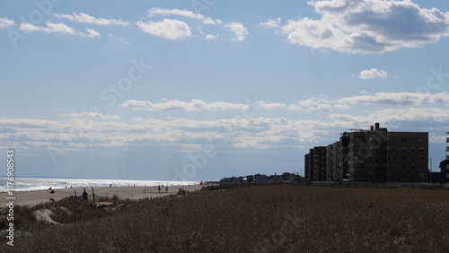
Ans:
{"type": "Polygon", "coordinates": [[[421,106],[424,104],[449,105],[449,94],[421,92],[377,92],[374,95],[362,95],[339,99],[339,103],[346,104],[395,104],[398,106],[421,106]]]}

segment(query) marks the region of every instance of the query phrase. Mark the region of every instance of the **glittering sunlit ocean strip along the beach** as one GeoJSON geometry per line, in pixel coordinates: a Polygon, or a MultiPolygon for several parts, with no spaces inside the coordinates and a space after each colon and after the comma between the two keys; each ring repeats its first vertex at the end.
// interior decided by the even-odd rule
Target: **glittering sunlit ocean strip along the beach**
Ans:
{"type": "MultiPolygon", "coordinates": [[[[7,179],[0,178],[0,192],[6,191],[7,179]]],[[[196,181],[163,181],[163,180],[118,180],[118,179],[44,179],[44,178],[14,178],[14,191],[43,190],[48,188],[78,188],[78,187],[144,187],[144,186],[177,186],[192,185],[196,181]]]]}

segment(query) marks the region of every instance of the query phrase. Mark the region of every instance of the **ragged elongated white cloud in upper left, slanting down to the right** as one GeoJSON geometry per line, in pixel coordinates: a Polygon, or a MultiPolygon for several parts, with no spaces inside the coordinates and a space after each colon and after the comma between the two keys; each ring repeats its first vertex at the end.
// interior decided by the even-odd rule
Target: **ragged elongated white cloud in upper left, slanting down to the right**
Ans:
{"type": "Polygon", "coordinates": [[[75,29],[67,26],[66,24],[47,22],[46,27],[34,25],[32,23],[24,23],[22,22],[19,26],[19,29],[22,31],[42,31],[45,33],[60,33],[60,34],[69,34],[86,38],[95,38],[100,37],[100,32],[94,31],[92,29],[86,29],[86,32],[78,32],[75,29]]]}

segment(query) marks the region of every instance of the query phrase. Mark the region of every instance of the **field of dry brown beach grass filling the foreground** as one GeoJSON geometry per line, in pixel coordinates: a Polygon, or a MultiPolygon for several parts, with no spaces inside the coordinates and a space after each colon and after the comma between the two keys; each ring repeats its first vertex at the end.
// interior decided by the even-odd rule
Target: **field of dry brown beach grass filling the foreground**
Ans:
{"type": "MultiPolygon", "coordinates": [[[[110,201],[114,201],[111,200],[110,201]]],[[[118,201],[115,199],[115,201],[118,201]]],[[[449,191],[292,185],[66,206],[45,225],[17,212],[16,252],[448,252],[449,191]],[[100,212],[100,213],[98,213],[100,212]],[[28,228],[27,228],[28,227],[28,228]]],[[[0,251],[6,248],[5,241],[0,251]]]]}

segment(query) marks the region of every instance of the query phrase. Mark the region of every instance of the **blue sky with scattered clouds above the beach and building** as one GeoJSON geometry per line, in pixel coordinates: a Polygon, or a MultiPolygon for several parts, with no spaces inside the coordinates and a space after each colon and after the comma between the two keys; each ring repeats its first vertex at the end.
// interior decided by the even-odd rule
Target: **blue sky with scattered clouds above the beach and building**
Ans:
{"type": "MultiPolygon", "coordinates": [[[[0,150],[18,177],[304,173],[375,122],[449,131],[449,2],[0,2],[0,150]]],[[[0,175],[6,174],[6,166],[0,175]]]]}

